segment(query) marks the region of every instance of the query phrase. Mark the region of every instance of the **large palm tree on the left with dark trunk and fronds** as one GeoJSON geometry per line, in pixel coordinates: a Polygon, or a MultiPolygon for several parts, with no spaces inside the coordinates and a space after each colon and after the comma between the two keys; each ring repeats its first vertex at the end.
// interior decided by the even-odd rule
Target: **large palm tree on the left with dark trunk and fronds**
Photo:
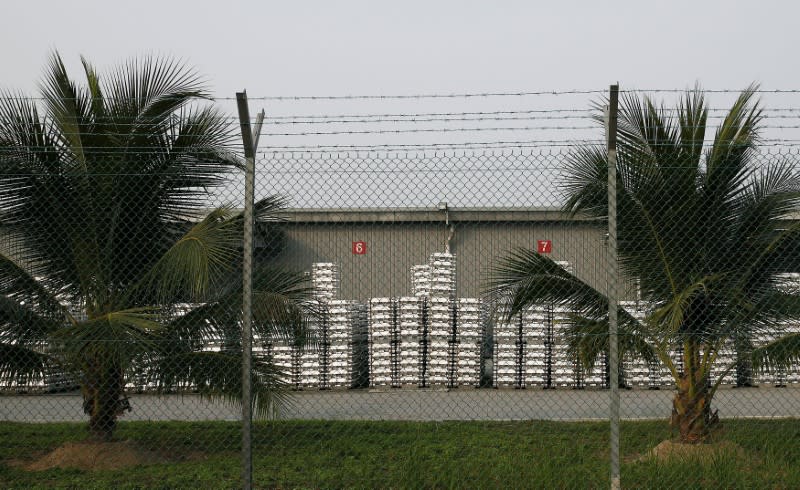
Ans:
{"type": "MultiPolygon", "coordinates": [[[[82,61],[85,86],[54,54],[40,104],[0,95],[0,381],[74,376],[107,440],[134,373],[241,400],[243,218],[204,215],[240,163],[195,72],[145,58],[101,78],[82,61]]],[[[281,206],[265,199],[256,218],[281,206]]],[[[304,338],[304,279],[261,262],[254,332],[304,338]]],[[[254,358],[257,409],[280,396],[277,374],[254,358]]]]}

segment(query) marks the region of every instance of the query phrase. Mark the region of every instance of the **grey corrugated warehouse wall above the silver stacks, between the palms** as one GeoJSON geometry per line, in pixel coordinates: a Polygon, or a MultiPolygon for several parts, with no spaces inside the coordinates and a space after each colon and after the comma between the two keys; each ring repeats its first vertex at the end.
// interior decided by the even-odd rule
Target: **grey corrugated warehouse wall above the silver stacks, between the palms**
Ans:
{"type": "MultiPolygon", "coordinates": [[[[451,213],[447,221],[454,227],[450,247],[456,254],[457,295],[479,296],[487,272],[499,257],[515,247],[535,248],[537,240],[551,240],[551,258],[569,261],[579,277],[603,290],[605,230],[586,221],[537,220],[537,216],[518,213],[513,220],[492,221],[509,216],[451,213]],[[472,219],[459,219],[459,215],[472,219]]],[[[361,301],[410,295],[410,268],[427,263],[431,253],[445,251],[450,234],[444,215],[431,212],[399,217],[335,212],[312,217],[303,213],[289,219],[279,261],[304,271],[310,270],[313,262],[335,262],[340,268],[341,298],[361,301]],[[353,254],[356,241],[366,242],[366,254],[353,254]]]]}

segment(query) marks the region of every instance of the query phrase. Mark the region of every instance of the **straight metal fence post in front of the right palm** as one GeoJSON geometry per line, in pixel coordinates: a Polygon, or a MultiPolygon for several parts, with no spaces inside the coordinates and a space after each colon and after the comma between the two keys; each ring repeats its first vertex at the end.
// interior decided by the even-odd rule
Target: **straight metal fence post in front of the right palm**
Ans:
{"type": "Polygon", "coordinates": [[[608,143],[608,362],[609,419],[611,429],[611,489],[620,488],[619,477],[619,350],[617,308],[619,268],[617,266],[617,111],[619,85],[611,85],[607,119],[608,143]]]}

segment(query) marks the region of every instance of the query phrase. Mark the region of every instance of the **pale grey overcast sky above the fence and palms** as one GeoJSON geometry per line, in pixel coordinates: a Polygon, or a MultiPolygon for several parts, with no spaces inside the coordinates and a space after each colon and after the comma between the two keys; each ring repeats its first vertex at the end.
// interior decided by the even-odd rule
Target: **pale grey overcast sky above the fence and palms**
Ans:
{"type": "MultiPolygon", "coordinates": [[[[792,2],[752,0],[11,0],[3,2],[0,16],[4,62],[0,85],[35,93],[53,50],[62,54],[78,79],[80,55],[102,72],[131,56],[156,53],[195,66],[208,77],[211,91],[219,97],[233,97],[246,88],[252,112],[265,107],[268,115],[585,109],[598,94],[313,103],[253,99],[603,91],[617,81],[622,89],[684,89],[695,83],[707,89],[741,89],[751,82],[764,89],[800,89],[799,12],[792,2]]],[[[797,94],[764,94],[762,98],[768,106],[800,107],[797,94]]],[[[729,104],[721,94],[712,95],[711,100],[712,106],[729,104]]],[[[233,113],[232,101],[220,104],[233,113]]],[[[530,126],[541,122],[481,124],[530,126]]],[[[585,124],[585,120],[563,123],[585,124]]],[[[554,125],[552,121],[550,125],[554,125]]],[[[325,129],[332,127],[336,128],[325,129]]],[[[297,130],[297,126],[279,128],[270,131],[297,130]]],[[[581,130],[557,132],[561,138],[587,134],[581,130]]],[[[313,141],[510,141],[547,139],[551,137],[548,134],[552,132],[337,135],[313,141]]],[[[592,134],[598,136],[597,131],[592,134]]],[[[800,139],[794,134],[791,137],[800,139]]],[[[309,141],[268,137],[262,145],[309,141]]]]}

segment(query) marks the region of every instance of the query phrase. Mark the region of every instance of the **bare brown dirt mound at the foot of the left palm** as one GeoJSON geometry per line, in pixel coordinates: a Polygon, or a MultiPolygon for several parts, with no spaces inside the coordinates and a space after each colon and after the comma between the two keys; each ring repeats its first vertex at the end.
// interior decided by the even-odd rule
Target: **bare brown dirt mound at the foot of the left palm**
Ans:
{"type": "Polygon", "coordinates": [[[166,451],[153,451],[134,441],[80,441],[67,442],[34,461],[13,461],[11,464],[28,471],[51,468],[76,468],[81,470],[117,470],[132,466],[205,459],[198,451],[175,455],[166,451]]]}

